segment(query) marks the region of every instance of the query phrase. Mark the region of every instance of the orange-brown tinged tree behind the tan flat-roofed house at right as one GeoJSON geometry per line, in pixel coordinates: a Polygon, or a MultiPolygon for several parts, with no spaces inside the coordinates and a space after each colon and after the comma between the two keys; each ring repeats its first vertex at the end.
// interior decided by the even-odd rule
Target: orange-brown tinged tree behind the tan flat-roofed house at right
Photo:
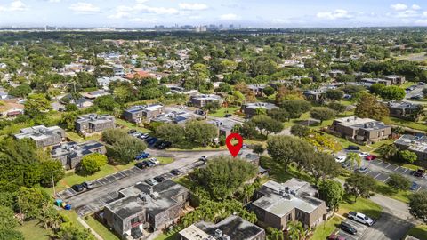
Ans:
{"type": "Polygon", "coordinates": [[[389,113],[389,108],[378,102],[375,96],[371,94],[363,94],[354,111],[356,116],[374,118],[375,120],[382,120],[384,117],[389,116],[389,113]]]}

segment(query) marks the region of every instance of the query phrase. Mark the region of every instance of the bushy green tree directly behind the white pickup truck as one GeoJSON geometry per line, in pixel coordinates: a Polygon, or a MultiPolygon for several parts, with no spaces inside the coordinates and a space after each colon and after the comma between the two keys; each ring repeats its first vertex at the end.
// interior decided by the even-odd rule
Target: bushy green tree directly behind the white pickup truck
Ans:
{"type": "Polygon", "coordinates": [[[350,177],[345,180],[345,191],[354,196],[354,202],[359,196],[369,197],[371,192],[376,189],[376,181],[371,176],[360,173],[351,173],[350,177]]]}

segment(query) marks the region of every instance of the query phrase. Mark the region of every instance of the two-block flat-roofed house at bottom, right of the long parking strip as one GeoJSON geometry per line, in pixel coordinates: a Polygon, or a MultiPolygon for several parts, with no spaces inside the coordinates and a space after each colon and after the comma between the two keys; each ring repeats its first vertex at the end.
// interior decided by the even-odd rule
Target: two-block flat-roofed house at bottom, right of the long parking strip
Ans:
{"type": "Polygon", "coordinates": [[[188,205],[189,189],[173,180],[154,186],[140,182],[119,191],[119,198],[105,206],[102,217],[109,228],[126,239],[147,228],[171,226],[188,205]]]}

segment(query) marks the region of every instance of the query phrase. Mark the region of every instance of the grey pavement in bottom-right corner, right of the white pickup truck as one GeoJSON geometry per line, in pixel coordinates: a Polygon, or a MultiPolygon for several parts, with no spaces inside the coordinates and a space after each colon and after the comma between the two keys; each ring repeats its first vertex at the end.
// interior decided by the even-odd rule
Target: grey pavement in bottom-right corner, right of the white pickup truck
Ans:
{"type": "Polygon", "coordinates": [[[370,200],[383,207],[383,214],[360,239],[401,239],[409,228],[415,226],[407,204],[382,195],[372,196],[370,200]]]}

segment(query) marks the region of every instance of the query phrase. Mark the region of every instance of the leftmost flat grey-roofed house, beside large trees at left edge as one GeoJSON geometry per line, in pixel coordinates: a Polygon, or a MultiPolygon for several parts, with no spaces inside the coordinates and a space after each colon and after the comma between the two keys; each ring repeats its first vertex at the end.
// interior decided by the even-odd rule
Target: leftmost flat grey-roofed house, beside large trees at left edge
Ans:
{"type": "Polygon", "coordinates": [[[37,147],[44,148],[60,144],[65,139],[65,131],[59,126],[45,127],[44,125],[37,125],[21,129],[20,133],[15,134],[14,137],[18,140],[27,138],[34,140],[37,147]]]}

